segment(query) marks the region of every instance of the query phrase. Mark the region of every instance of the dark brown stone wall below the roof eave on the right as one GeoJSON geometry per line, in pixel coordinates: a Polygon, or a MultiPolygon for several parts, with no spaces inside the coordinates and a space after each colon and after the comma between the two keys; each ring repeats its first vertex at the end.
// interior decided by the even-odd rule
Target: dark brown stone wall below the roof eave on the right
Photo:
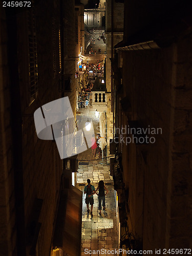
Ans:
{"type": "Polygon", "coordinates": [[[123,125],[162,129],[150,135],[155,143],[123,144],[129,226],[145,250],[191,247],[190,51],[191,34],[164,49],[122,52],[131,102],[123,125]]]}

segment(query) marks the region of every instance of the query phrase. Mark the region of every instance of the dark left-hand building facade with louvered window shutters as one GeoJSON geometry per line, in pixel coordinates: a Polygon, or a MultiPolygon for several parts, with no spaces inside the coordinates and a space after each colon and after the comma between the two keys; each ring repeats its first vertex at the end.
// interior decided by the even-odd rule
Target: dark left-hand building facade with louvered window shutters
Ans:
{"type": "Polygon", "coordinates": [[[75,1],[0,12],[0,254],[57,255],[60,194],[75,169],[66,173],[55,141],[37,138],[33,114],[69,96],[75,116],[75,1]]]}

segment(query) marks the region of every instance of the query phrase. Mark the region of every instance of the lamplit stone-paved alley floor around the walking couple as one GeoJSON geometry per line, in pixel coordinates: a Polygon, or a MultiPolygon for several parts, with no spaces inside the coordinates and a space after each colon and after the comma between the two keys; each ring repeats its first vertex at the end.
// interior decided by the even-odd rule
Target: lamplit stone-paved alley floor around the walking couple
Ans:
{"type": "MultiPolygon", "coordinates": [[[[87,115],[92,118],[96,133],[96,126],[98,125],[99,119],[94,117],[95,110],[89,108],[79,109],[79,111],[82,115],[87,115]]],[[[103,180],[109,190],[105,200],[106,210],[101,211],[101,216],[98,214],[97,195],[94,195],[93,217],[91,217],[91,215],[87,213],[86,203],[84,202],[86,195],[83,194],[81,255],[99,255],[99,253],[96,253],[97,250],[106,249],[107,252],[108,250],[118,249],[115,191],[113,178],[110,176],[109,171],[109,159],[104,158],[102,161],[102,159],[99,159],[98,155],[93,157],[91,148],[79,154],[78,159],[82,160],[82,162],[79,161],[76,186],[83,191],[84,186],[87,185],[87,179],[89,178],[91,184],[95,186],[95,189],[98,186],[99,180],[103,180]],[[86,253],[87,251],[84,251],[85,249],[91,250],[92,254],[86,253]]],[[[104,253],[101,255],[109,254],[104,253]]]]}

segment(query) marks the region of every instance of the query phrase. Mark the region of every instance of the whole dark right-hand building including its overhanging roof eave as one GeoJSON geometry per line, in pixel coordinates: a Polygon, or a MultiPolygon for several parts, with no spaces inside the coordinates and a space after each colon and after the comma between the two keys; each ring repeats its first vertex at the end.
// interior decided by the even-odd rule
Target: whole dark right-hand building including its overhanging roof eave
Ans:
{"type": "Polygon", "coordinates": [[[153,254],[192,245],[191,3],[156,4],[124,1],[114,65],[121,245],[153,254]]]}

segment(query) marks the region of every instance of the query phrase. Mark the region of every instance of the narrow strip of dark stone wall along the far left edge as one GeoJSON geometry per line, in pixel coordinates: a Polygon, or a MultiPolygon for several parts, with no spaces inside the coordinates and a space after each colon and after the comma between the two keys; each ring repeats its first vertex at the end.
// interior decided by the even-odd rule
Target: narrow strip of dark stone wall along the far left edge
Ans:
{"type": "Polygon", "coordinates": [[[9,97],[9,67],[5,9],[0,8],[0,245],[1,255],[16,253],[14,173],[12,162],[12,132],[9,97]]]}

